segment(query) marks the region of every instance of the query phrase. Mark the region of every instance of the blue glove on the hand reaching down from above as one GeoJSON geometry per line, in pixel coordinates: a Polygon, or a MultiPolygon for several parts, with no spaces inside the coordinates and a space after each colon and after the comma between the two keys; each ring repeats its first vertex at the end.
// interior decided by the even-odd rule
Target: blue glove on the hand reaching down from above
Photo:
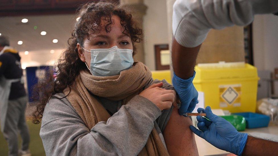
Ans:
{"type": "Polygon", "coordinates": [[[179,100],[181,101],[179,115],[191,113],[198,103],[198,91],[192,83],[195,74],[196,72],[194,71],[191,78],[183,80],[174,73],[172,82],[177,94],[179,95],[179,100]]]}

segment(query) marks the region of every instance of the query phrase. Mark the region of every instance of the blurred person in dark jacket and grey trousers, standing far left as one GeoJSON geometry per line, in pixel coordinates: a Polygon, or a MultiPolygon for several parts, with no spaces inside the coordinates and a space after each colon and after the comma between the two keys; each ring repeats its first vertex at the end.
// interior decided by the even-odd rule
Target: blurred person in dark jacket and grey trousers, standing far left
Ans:
{"type": "Polygon", "coordinates": [[[22,81],[22,68],[17,50],[9,45],[5,36],[0,36],[0,121],[1,131],[9,146],[9,155],[31,155],[30,136],[25,120],[27,103],[22,81]],[[22,138],[18,150],[18,132],[22,138]]]}

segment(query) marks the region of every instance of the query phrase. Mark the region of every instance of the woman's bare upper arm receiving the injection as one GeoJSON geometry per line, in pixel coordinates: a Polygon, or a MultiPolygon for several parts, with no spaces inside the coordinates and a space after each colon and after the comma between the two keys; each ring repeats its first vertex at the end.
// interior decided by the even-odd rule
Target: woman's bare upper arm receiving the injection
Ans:
{"type": "Polygon", "coordinates": [[[179,115],[177,107],[174,107],[163,132],[170,155],[198,155],[194,134],[189,125],[192,125],[191,119],[179,115]]]}

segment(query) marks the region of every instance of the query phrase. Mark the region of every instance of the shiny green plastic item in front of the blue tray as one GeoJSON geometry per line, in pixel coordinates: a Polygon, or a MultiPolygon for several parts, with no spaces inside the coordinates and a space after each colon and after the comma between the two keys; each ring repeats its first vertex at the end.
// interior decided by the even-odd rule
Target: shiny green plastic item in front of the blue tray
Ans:
{"type": "Polygon", "coordinates": [[[244,131],[246,128],[246,121],[243,116],[240,115],[226,115],[220,116],[230,122],[238,131],[244,131]]]}

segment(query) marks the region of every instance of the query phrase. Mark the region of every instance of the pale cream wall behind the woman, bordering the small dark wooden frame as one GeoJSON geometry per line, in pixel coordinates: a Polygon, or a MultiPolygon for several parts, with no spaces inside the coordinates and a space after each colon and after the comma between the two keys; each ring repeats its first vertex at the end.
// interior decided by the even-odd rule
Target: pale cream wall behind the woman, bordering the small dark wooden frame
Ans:
{"type": "Polygon", "coordinates": [[[154,45],[168,44],[166,0],[144,0],[148,7],[143,20],[145,64],[155,70],[154,45]]]}

